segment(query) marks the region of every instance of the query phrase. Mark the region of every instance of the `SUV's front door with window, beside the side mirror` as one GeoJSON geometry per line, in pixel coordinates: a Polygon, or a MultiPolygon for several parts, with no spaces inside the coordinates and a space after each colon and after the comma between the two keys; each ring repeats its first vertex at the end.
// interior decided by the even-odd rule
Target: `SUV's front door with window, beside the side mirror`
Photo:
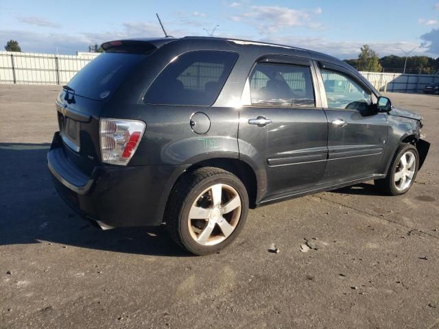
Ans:
{"type": "Polygon", "coordinates": [[[388,123],[370,108],[375,95],[341,66],[320,65],[322,101],[328,118],[328,163],[324,182],[375,173],[383,159],[388,123]]]}

